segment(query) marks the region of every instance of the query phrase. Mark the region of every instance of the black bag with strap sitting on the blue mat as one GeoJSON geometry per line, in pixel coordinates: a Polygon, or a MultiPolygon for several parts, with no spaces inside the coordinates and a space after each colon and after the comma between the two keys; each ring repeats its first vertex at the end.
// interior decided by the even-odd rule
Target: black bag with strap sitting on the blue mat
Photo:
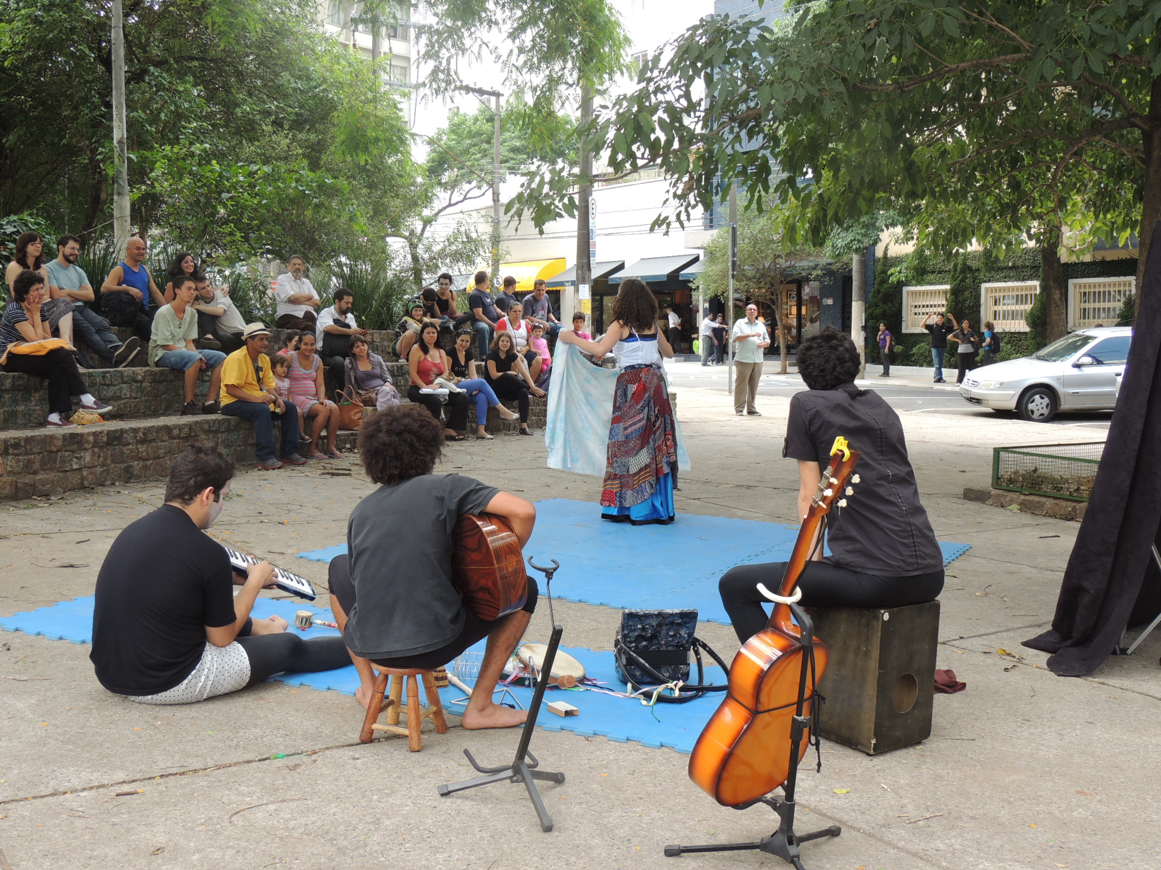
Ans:
{"type": "Polygon", "coordinates": [[[698,666],[695,683],[683,684],[677,694],[658,693],[656,699],[669,704],[684,704],[708,691],[726,691],[728,683],[706,684],[702,651],[729,673],[729,666],[706,641],[694,633],[698,611],[690,610],[626,610],[613,639],[616,677],[629,686],[656,687],[690,679],[690,653],[698,666]]]}

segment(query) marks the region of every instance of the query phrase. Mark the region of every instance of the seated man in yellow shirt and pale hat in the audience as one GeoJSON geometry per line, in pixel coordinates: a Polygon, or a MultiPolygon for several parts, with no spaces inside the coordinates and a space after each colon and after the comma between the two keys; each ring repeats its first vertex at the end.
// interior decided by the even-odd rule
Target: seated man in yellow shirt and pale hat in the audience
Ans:
{"type": "Polygon", "coordinates": [[[250,324],[241,333],[246,342],[222,363],[223,414],[240,416],[254,425],[255,465],[265,471],[283,465],[305,465],[298,456],[298,409],[282,403],[274,392],[274,375],[266,348],[271,332],[250,324]],[[282,425],[282,462],[274,458],[274,421],[282,425]]]}

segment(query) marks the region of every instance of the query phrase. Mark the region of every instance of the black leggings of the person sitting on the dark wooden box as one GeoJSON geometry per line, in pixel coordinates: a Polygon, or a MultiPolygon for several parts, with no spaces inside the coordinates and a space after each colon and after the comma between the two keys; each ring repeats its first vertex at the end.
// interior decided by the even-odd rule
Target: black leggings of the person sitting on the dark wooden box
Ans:
{"type": "MultiPolygon", "coordinates": [[[[786,573],[785,561],[738,565],[717,581],[722,604],[743,644],[769,622],[763,603],[770,603],[758,592],[758,583],[777,593],[786,573]]],[[[802,570],[799,588],[802,607],[889,608],[935,601],[943,592],[943,568],[930,574],[884,577],[851,571],[829,561],[812,561],[802,570]]]]}

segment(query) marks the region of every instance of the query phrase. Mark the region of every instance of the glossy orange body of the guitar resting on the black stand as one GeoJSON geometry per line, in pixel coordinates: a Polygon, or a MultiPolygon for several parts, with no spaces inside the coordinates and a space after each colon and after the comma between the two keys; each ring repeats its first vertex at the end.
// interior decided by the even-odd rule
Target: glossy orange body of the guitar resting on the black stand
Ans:
{"type": "MultiPolygon", "coordinates": [[[[747,640],[734,658],[730,694],[706,724],[690,755],[690,778],[722,806],[755,800],[786,781],[789,752],[771,752],[771,747],[785,745],[789,734],[803,653],[798,636],[765,629],[747,640]],[[771,712],[753,712],[759,710],[771,712]]],[[[817,638],[814,658],[814,679],[821,679],[827,667],[827,645],[817,638]]],[[[807,683],[803,716],[813,709],[812,681],[807,683]]],[[[799,747],[800,760],[807,751],[808,733],[799,747]]]]}

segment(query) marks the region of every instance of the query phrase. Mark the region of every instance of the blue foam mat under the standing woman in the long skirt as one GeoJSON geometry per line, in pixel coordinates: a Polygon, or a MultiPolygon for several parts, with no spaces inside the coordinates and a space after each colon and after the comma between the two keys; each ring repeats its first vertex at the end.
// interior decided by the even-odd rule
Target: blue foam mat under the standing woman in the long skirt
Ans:
{"type": "MultiPolygon", "coordinates": [[[[553,595],[565,601],[619,609],[697,608],[705,622],[729,624],[717,580],[735,565],[784,561],[796,525],[678,514],[669,525],[629,525],[600,519],[589,501],[536,502],[536,528],[524,548],[540,565],[561,563],[553,595]]],[[[969,544],[939,544],[944,565],[969,544]]],[[[330,561],[346,544],[298,553],[330,561]]],[[[541,590],[543,592],[543,590],[541,590]]]]}

